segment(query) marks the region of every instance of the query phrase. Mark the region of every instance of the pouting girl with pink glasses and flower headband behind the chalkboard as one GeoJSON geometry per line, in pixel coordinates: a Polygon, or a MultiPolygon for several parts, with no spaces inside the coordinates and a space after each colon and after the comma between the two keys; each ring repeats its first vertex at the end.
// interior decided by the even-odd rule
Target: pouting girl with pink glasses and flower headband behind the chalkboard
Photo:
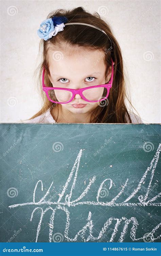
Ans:
{"type": "Polygon", "coordinates": [[[37,33],[43,106],[27,123],[143,123],[127,111],[121,49],[98,13],[57,10],[37,33]]]}

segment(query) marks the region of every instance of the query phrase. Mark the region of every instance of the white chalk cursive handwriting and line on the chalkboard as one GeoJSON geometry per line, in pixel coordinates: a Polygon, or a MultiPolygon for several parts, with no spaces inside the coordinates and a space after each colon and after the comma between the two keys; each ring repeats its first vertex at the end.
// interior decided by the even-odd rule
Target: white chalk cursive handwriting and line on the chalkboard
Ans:
{"type": "MultiPolygon", "coordinates": [[[[155,200],[158,199],[161,196],[161,193],[159,193],[157,196],[155,196],[151,199],[148,198],[151,182],[153,180],[155,169],[156,169],[157,162],[158,162],[158,159],[159,159],[160,150],[161,150],[161,144],[159,144],[158,149],[155,153],[155,156],[151,160],[150,166],[146,169],[144,175],[140,179],[139,184],[136,186],[136,188],[132,191],[132,193],[123,202],[117,203],[116,200],[124,192],[125,188],[128,185],[128,180],[129,179],[127,179],[125,181],[125,184],[122,185],[121,191],[111,201],[107,201],[107,202],[100,201],[100,193],[101,193],[102,187],[105,185],[105,182],[110,181],[110,185],[109,185],[109,188],[108,188],[109,190],[112,188],[112,186],[114,184],[112,179],[110,179],[110,178],[105,179],[101,183],[99,189],[97,190],[96,201],[81,201],[83,198],[85,198],[85,196],[88,194],[91,187],[93,186],[94,182],[96,181],[96,176],[95,175],[93,175],[93,177],[91,177],[89,179],[89,183],[86,186],[86,188],[84,189],[83,193],[81,195],[79,195],[78,198],[72,200],[73,191],[74,191],[75,184],[76,184],[76,181],[77,181],[77,174],[78,174],[78,170],[79,170],[79,162],[80,162],[82,152],[83,152],[83,150],[81,149],[79,151],[78,155],[77,155],[74,166],[73,166],[73,168],[72,168],[72,170],[69,174],[69,177],[68,177],[65,185],[63,186],[63,189],[62,189],[61,193],[59,194],[59,198],[58,198],[57,201],[52,202],[51,199],[46,200],[47,196],[49,196],[50,193],[51,193],[51,188],[53,186],[53,182],[51,183],[51,185],[50,185],[49,189],[47,190],[46,194],[38,202],[35,201],[36,190],[37,190],[37,186],[38,186],[39,183],[41,184],[41,191],[43,191],[43,183],[42,183],[41,180],[39,180],[36,183],[35,188],[34,188],[33,202],[13,204],[13,205],[10,205],[9,208],[15,208],[15,207],[18,207],[18,206],[25,206],[25,205],[36,205],[36,208],[33,210],[32,214],[31,214],[30,221],[32,221],[32,219],[34,218],[35,211],[36,210],[41,210],[41,216],[40,216],[39,224],[38,224],[38,227],[37,227],[36,242],[38,241],[43,216],[48,210],[52,211],[51,217],[50,217],[50,223],[49,223],[49,242],[52,242],[52,234],[53,234],[53,229],[54,229],[54,216],[55,216],[56,210],[62,210],[66,213],[66,227],[65,227],[64,236],[67,239],[67,241],[69,241],[69,242],[77,241],[78,236],[80,236],[81,239],[84,242],[96,241],[96,240],[100,239],[103,236],[104,233],[106,233],[106,231],[107,231],[108,227],[111,225],[111,223],[115,223],[113,233],[111,234],[111,238],[110,238],[109,241],[107,241],[107,242],[113,242],[114,238],[115,238],[115,236],[118,232],[119,225],[122,222],[124,222],[124,227],[122,228],[122,232],[120,234],[118,242],[123,242],[123,240],[125,238],[125,235],[127,233],[128,226],[129,226],[130,223],[132,224],[132,227],[131,227],[131,230],[130,230],[130,238],[132,239],[132,241],[140,241],[144,237],[136,238],[136,231],[137,231],[137,227],[139,225],[136,217],[131,217],[129,219],[127,219],[126,217],[122,217],[122,218],[110,217],[105,222],[104,226],[102,227],[102,229],[99,233],[99,236],[94,237],[93,234],[92,234],[93,233],[93,222],[92,222],[92,213],[91,213],[91,211],[89,211],[89,213],[88,213],[87,224],[81,230],[79,230],[77,232],[77,234],[75,235],[74,238],[70,238],[69,235],[68,235],[69,228],[70,228],[70,209],[72,207],[76,207],[77,205],[85,205],[85,204],[94,205],[94,206],[101,205],[101,206],[106,206],[106,207],[107,206],[108,207],[117,207],[117,206],[119,206],[119,207],[121,207],[121,206],[122,207],[132,207],[132,206],[146,207],[148,205],[150,205],[150,206],[160,206],[161,203],[155,202],[155,200]],[[137,202],[137,203],[129,202],[129,200],[131,198],[133,198],[138,193],[138,191],[141,189],[141,185],[144,184],[148,173],[150,174],[150,179],[149,179],[149,184],[148,184],[145,195],[139,196],[138,197],[139,202],[137,202]],[[73,180],[73,182],[71,184],[70,192],[65,196],[65,199],[63,200],[65,192],[66,192],[67,188],[69,188],[69,184],[71,183],[71,180],[73,180]],[[42,205],[47,205],[47,208],[45,210],[43,210],[42,207],[39,207],[39,205],[41,205],[41,206],[42,205]],[[54,205],[55,205],[55,208],[54,208],[54,205]],[[87,232],[89,233],[89,236],[88,236],[88,238],[85,239],[85,233],[87,233],[87,232]]],[[[160,225],[161,225],[161,223],[159,223],[156,227],[154,227],[153,230],[151,230],[149,232],[149,234],[151,236],[153,236],[153,234],[160,227],[160,225]]],[[[159,239],[159,237],[160,236],[154,238],[154,236],[153,236],[153,238],[151,239],[151,242],[153,242],[154,240],[159,239]]]]}

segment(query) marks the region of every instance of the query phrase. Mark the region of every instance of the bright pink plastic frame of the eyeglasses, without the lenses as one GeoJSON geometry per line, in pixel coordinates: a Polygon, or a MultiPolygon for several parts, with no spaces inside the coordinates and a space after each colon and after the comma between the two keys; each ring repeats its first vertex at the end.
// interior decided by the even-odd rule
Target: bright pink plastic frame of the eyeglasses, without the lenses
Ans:
{"type": "Polygon", "coordinates": [[[109,91],[110,91],[110,88],[112,87],[112,82],[113,82],[113,60],[111,58],[111,63],[112,63],[112,71],[111,71],[111,78],[110,78],[110,81],[107,83],[107,84],[101,84],[101,85],[95,85],[95,86],[88,86],[88,87],[85,87],[85,88],[80,88],[80,89],[70,89],[70,88],[59,88],[59,87],[48,87],[44,84],[44,75],[45,75],[45,67],[43,67],[43,72],[42,72],[42,89],[43,91],[46,93],[47,95],[47,98],[53,102],[53,103],[58,103],[58,104],[66,104],[66,103],[69,103],[71,102],[75,95],[76,94],[79,94],[81,96],[82,99],[84,99],[85,101],[87,102],[99,102],[99,101],[102,101],[102,100],[105,100],[108,98],[108,95],[109,95],[109,91]],[[84,90],[87,90],[87,89],[91,89],[91,88],[97,88],[97,87],[105,87],[107,88],[107,95],[105,98],[103,99],[100,99],[100,100],[87,100],[85,98],[85,96],[83,95],[83,91],[84,90]],[[66,90],[66,91],[70,91],[72,93],[72,97],[70,100],[66,101],[66,102],[58,102],[58,101],[53,101],[49,98],[49,95],[48,95],[48,91],[49,90],[66,90]]]}

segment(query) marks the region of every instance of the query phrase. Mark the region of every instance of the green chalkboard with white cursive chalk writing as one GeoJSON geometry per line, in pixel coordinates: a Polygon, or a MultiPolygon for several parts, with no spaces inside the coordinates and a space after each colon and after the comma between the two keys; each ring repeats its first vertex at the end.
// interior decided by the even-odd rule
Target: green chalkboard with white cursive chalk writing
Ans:
{"type": "Polygon", "coordinates": [[[1,242],[159,242],[159,124],[0,124],[1,242]]]}

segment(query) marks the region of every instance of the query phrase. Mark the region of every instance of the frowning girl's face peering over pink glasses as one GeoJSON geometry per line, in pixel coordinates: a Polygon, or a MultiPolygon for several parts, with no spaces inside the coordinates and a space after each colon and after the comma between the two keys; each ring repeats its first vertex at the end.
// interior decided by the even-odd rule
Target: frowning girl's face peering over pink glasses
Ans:
{"type": "MultiPolygon", "coordinates": [[[[48,50],[49,79],[53,87],[80,89],[89,86],[105,84],[106,65],[105,53],[100,50],[91,51],[83,47],[68,47],[67,50],[48,50]]],[[[110,74],[108,75],[110,79],[110,74]]],[[[89,100],[97,100],[103,95],[103,88],[94,88],[84,94],[89,100]],[[97,98],[97,99],[96,99],[97,98]]],[[[68,101],[70,92],[55,90],[55,96],[59,101],[68,101]]],[[[63,110],[73,114],[89,114],[100,102],[87,102],[80,95],[66,104],[61,104],[63,110]],[[82,104],[82,105],[75,105],[82,104]]]]}

